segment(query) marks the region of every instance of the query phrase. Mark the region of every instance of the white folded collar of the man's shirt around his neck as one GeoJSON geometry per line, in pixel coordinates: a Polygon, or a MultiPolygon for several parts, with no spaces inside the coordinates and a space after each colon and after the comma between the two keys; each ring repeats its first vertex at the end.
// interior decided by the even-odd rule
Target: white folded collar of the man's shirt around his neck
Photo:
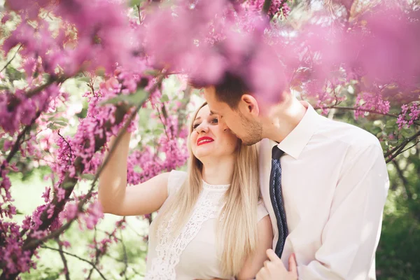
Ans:
{"type": "MultiPolygon", "coordinates": [[[[300,103],[307,108],[306,113],[304,113],[302,120],[300,120],[300,123],[297,124],[295,129],[277,145],[279,149],[292,156],[295,160],[299,158],[300,153],[302,153],[304,147],[308,144],[309,139],[311,139],[318,128],[318,122],[320,120],[318,113],[316,113],[311,104],[304,101],[300,103]]],[[[275,141],[270,142],[272,146],[276,145],[275,141]]]]}

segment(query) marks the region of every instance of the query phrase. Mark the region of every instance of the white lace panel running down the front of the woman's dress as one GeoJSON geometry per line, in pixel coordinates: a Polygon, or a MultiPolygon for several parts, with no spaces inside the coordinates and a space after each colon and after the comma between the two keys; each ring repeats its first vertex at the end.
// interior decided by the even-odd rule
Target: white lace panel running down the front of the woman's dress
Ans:
{"type": "Polygon", "coordinates": [[[155,249],[156,257],[151,260],[151,269],[147,272],[145,279],[175,280],[176,265],[179,263],[183,250],[200,231],[202,223],[211,218],[216,218],[221,210],[223,205],[220,203],[225,192],[216,190],[223,190],[225,187],[221,188],[221,186],[229,187],[229,185],[209,185],[205,182],[203,185],[205,188],[198,197],[193,214],[176,238],[172,238],[169,231],[174,226],[176,213],[172,214],[167,227],[158,228],[159,240],[155,249]]]}

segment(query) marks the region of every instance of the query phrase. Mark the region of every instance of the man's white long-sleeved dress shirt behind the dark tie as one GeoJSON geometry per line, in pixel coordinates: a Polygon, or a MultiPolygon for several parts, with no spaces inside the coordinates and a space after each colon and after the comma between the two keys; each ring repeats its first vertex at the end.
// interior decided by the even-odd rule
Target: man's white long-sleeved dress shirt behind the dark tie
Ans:
{"type": "MultiPolygon", "coordinates": [[[[288,237],[281,260],[295,253],[299,279],[376,279],[374,254],[389,188],[379,141],[356,126],[307,112],[277,146],[288,237]]],[[[272,147],[259,148],[260,186],[279,239],[269,196],[272,147]]]]}

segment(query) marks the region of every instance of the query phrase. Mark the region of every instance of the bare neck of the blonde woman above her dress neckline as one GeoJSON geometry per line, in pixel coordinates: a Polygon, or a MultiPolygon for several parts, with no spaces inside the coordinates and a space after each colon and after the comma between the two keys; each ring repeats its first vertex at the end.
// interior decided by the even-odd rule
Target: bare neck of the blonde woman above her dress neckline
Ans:
{"type": "Polygon", "coordinates": [[[203,160],[202,177],[210,185],[228,185],[232,182],[235,157],[203,160]]]}

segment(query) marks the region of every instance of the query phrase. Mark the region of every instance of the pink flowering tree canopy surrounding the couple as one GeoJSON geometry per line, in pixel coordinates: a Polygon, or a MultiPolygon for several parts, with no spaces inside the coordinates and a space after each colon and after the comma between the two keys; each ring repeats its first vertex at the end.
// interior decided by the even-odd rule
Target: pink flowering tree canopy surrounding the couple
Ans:
{"type": "MultiPolygon", "coordinates": [[[[186,77],[212,84],[233,73],[269,102],[291,91],[327,116],[351,111],[379,138],[388,162],[419,143],[416,4],[325,1],[305,19],[294,14],[300,8],[284,0],[6,0],[0,279],[35,268],[48,240],[61,251],[69,246],[60,237],[74,221],[94,229],[103,216],[95,188],[111,136],[138,136],[129,184],[185,165],[186,77]],[[66,91],[75,83],[87,85],[83,110],[66,91]],[[170,93],[168,83],[176,83],[170,93]],[[160,124],[158,133],[141,125],[148,120],[160,124]],[[16,223],[10,174],[41,166],[51,182],[45,204],[16,223]],[[76,191],[82,181],[90,188],[76,191]]],[[[125,218],[95,241],[93,267],[123,228],[125,218]]]]}

